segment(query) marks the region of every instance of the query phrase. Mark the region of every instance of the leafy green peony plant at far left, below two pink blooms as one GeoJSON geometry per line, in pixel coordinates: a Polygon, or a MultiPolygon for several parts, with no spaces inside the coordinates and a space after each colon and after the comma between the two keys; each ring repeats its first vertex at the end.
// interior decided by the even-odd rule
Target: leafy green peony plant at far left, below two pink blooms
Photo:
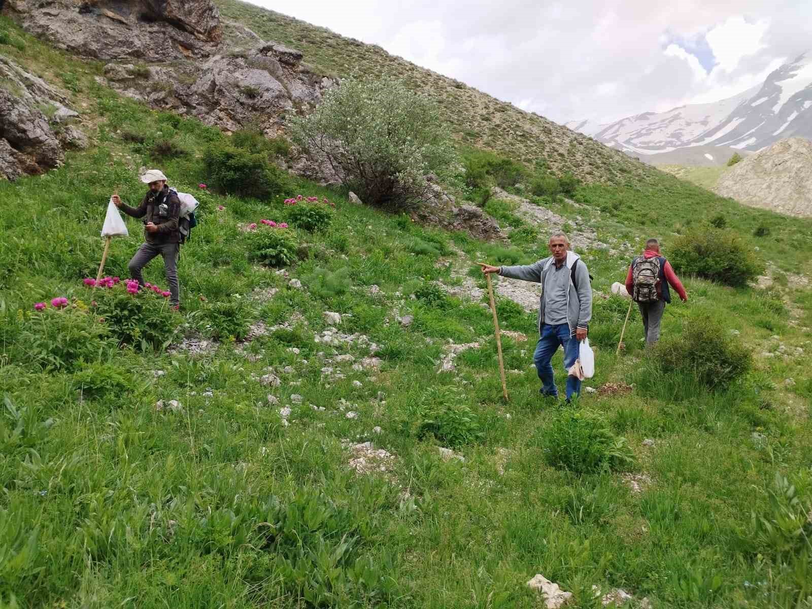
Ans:
{"type": "Polygon", "coordinates": [[[28,361],[45,369],[72,370],[115,347],[110,330],[77,301],[27,315],[19,345],[28,361]]]}

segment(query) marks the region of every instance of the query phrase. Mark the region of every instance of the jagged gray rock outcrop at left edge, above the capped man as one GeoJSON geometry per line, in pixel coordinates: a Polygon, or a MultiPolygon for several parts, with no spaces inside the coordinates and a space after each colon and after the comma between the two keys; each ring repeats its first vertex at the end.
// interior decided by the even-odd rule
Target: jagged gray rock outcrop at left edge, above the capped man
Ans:
{"type": "Polygon", "coordinates": [[[0,175],[40,174],[63,162],[63,144],[86,145],[84,134],[63,124],[78,114],[44,80],[2,55],[0,80],[0,175]]]}

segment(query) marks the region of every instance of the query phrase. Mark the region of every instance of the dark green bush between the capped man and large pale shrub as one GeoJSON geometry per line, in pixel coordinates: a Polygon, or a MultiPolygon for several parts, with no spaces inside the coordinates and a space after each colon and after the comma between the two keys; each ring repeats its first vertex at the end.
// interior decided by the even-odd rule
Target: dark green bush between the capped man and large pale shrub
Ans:
{"type": "Polygon", "coordinates": [[[283,192],[287,173],[268,162],[264,153],[251,153],[227,143],[209,145],[204,156],[210,187],[240,197],[264,199],[283,192]]]}

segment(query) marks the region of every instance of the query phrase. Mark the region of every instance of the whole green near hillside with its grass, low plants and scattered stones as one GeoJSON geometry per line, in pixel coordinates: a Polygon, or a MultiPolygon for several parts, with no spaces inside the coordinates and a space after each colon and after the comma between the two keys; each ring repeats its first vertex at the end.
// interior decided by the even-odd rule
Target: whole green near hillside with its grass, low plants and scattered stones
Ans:
{"type": "MultiPolygon", "coordinates": [[[[810,606],[812,222],[655,173],[527,194],[561,226],[489,195],[505,243],[281,172],[261,198],[220,195],[200,187],[207,159],[284,146],[149,110],[98,84],[97,63],[0,28],[17,43],[0,52],[63,89],[95,142],[0,182],[0,607],[529,609],[536,573],[572,607],[618,588],[633,607],[810,606]],[[180,312],[83,282],[111,192],[143,196],[142,166],[201,200],[180,312]],[[561,227],[595,235],[579,252],[596,391],[540,400],[535,313],[498,296],[505,403],[475,262],[535,261],[561,227]],[[633,312],[616,357],[628,301],[608,292],[631,253],[710,227],[771,286],[684,274],[663,347],[642,352],[633,312]]],[[[509,164],[479,160],[469,194],[509,164]]],[[[141,240],[127,223],[111,277],[141,240]]],[[[145,276],[165,286],[160,261],[145,276]]]]}

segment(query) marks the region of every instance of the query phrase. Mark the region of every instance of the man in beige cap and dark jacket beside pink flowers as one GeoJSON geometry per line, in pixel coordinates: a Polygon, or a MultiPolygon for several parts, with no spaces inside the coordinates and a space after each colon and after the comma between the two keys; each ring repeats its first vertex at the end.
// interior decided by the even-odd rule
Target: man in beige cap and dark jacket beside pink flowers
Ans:
{"type": "Polygon", "coordinates": [[[166,185],[166,175],[158,169],[150,169],[141,176],[141,182],[149,184],[149,190],[138,207],[125,205],[118,195],[113,202],[132,218],[145,218],[144,240],[129,264],[132,279],[144,286],[141,274],[150,260],[161,254],[169,283],[170,302],[175,309],[180,306],[180,286],[178,283],[178,254],[180,251],[180,200],[178,195],[166,185]]]}

